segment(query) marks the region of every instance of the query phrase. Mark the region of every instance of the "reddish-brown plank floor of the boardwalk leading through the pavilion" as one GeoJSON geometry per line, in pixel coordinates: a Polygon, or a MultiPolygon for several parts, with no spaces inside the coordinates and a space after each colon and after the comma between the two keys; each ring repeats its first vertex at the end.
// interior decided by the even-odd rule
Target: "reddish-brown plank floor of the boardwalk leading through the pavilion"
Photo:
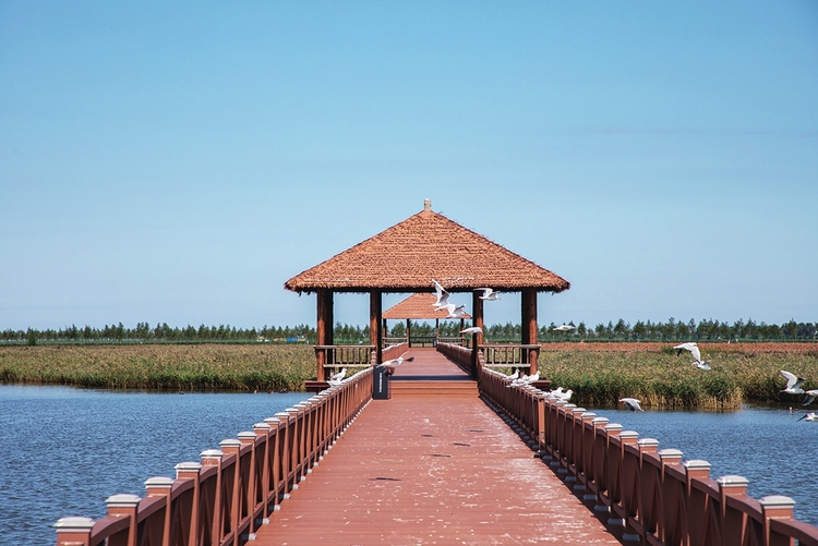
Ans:
{"type": "MultiPolygon", "coordinates": [[[[470,381],[413,350],[400,381],[470,381]]],[[[461,392],[461,391],[458,391],[461,392]]],[[[257,532],[260,545],[619,544],[477,395],[373,400],[257,532]]]]}

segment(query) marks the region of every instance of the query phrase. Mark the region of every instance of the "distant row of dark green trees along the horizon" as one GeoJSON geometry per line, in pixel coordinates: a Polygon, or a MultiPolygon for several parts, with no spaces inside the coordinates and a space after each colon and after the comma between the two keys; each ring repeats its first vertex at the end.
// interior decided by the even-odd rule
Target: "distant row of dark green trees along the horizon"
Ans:
{"type": "MultiPolygon", "coordinates": [[[[666,321],[652,323],[637,320],[634,325],[622,318],[616,323],[598,324],[593,328],[585,323],[567,323],[575,327],[569,331],[557,331],[556,325],[551,323],[542,326],[539,331],[540,341],[815,341],[818,333],[818,323],[787,323],[766,324],[753,319],[738,319],[734,323],[703,319],[698,323],[693,318],[688,321],[670,318],[666,321]]],[[[411,335],[434,336],[434,324],[428,321],[410,321],[411,335]]],[[[337,344],[368,343],[370,339],[369,326],[360,327],[337,323],[333,330],[337,344]]],[[[406,323],[396,321],[387,328],[388,337],[406,337],[406,323]]],[[[460,335],[458,320],[443,320],[440,323],[438,335],[442,337],[457,337],[460,335]]],[[[495,324],[485,328],[485,338],[493,342],[518,342],[521,338],[519,324],[495,324]]],[[[159,323],[152,327],[148,323],[137,323],[134,328],[128,328],[122,323],[106,325],[103,328],[75,325],[60,329],[26,330],[5,329],[0,331],[0,341],[4,342],[74,342],[74,343],[105,343],[105,342],[272,342],[272,343],[315,343],[315,328],[308,325],[264,326],[263,328],[236,328],[230,325],[205,326],[199,328],[188,325],[184,328],[170,327],[167,323],[159,323]]]]}

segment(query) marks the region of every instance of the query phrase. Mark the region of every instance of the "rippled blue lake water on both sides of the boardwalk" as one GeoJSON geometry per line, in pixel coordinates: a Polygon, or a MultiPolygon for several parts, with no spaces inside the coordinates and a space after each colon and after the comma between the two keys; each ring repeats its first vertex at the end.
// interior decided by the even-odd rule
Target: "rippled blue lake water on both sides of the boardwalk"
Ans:
{"type": "MultiPolygon", "coordinates": [[[[199,461],[309,395],[146,393],[0,385],[0,544],[55,544],[50,526],[67,515],[105,515],[118,493],[144,496],[152,476],[199,461]]],[[[711,476],[739,474],[756,498],[786,495],[795,513],[818,524],[814,439],[818,423],[786,408],[731,413],[630,413],[592,409],[660,449],[705,459],[711,476]]]]}

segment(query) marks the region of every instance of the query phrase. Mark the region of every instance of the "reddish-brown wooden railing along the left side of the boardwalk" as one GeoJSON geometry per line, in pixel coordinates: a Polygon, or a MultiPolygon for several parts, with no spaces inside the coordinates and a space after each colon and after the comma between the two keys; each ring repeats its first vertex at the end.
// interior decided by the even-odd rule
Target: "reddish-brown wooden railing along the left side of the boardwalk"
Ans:
{"type": "Polygon", "coordinates": [[[145,498],[115,495],[108,515],[63,518],[58,546],[230,546],[254,537],[372,399],[372,369],[145,482],[145,498]]]}

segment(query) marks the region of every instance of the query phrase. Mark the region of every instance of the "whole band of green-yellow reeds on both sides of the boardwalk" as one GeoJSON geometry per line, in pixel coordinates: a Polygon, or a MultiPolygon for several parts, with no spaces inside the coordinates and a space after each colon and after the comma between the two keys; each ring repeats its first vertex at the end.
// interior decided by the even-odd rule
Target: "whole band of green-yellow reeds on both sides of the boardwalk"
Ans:
{"type": "MultiPolygon", "coordinates": [[[[646,408],[733,409],[746,401],[783,401],[787,369],[818,388],[818,350],[775,344],[706,345],[712,371],[676,356],[670,344],[580,348],[545,344],[541,376],[573,389],[573,402],[614,405],[633,397],[646,408]]],[[[315,376],[310,345],[129,344],[0,347],[0,383],[74,385],[108,389],[300,391],[315,376]]]]}

